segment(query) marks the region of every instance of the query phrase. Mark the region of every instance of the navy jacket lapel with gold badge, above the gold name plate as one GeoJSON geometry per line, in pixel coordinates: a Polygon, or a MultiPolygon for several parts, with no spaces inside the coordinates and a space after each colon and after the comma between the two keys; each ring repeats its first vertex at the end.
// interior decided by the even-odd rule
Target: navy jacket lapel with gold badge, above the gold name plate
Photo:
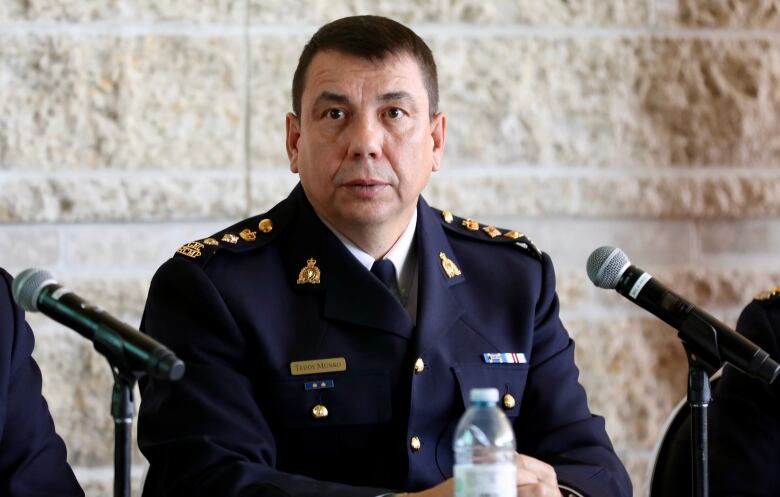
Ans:
{"type": "Polygon", "coordinates": [[[302,292],[322,292],[323,316],[363,327],[385,330],[410,338],[409,314],[382,283],[347,250],[319,219],[300,185],[294,192],[299,203],[289,244],[289,273],[302,292]],[[298,283],[310,259],[319,270],[319,283],[298,283]]]}

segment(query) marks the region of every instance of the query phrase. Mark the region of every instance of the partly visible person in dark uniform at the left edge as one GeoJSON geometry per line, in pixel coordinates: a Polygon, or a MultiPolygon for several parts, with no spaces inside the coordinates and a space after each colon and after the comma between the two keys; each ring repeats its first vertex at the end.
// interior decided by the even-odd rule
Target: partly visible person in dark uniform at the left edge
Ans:
{"type": "Polygon", "coordinates": [[[83,496],[41,395],[34,338],[0,268],[0,495],[83,496]]]}

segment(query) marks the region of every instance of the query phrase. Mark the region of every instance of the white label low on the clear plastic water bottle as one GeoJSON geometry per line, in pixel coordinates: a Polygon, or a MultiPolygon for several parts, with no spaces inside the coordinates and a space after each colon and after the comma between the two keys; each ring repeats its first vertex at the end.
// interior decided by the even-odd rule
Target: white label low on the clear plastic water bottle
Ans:
{"type": "Polygon", "coordinates": [[[512,463],[456,464],[455,497],[515,497],[517,469],[512,463]]]}

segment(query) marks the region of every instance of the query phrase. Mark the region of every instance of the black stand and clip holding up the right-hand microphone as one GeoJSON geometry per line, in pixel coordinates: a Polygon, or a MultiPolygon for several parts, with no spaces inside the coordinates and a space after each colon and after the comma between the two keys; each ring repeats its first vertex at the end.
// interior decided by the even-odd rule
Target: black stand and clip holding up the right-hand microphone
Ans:
{"type": "Polygon", "coordinates": [[[683,321],[677,336],[682,340],[688,356],[688,406],[691,410],[693,496],[709,497],[707,408],[710,404],[710,374],[717,371],[718,367],[723,364],[718,350],[718,333],[709,323],[691,315],[683,321]],[[701,353],[696,354],[693,350],[701,353]]]}

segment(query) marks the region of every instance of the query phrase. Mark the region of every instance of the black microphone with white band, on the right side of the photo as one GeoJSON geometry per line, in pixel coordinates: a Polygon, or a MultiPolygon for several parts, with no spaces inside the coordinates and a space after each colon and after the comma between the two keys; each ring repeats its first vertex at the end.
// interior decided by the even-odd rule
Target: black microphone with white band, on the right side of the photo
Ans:
{"type": "Polygon", "coordinates": [[[772,383],[780,365],[756,344],[732,330],[676,293],[642,269],[631,265],[622,250],[599,247],[590,254],[588,277],[600,288],[614,289],[643,309],[678,330],[691,354],[717,370],[723,362],[744,373],[772,383]]]}

